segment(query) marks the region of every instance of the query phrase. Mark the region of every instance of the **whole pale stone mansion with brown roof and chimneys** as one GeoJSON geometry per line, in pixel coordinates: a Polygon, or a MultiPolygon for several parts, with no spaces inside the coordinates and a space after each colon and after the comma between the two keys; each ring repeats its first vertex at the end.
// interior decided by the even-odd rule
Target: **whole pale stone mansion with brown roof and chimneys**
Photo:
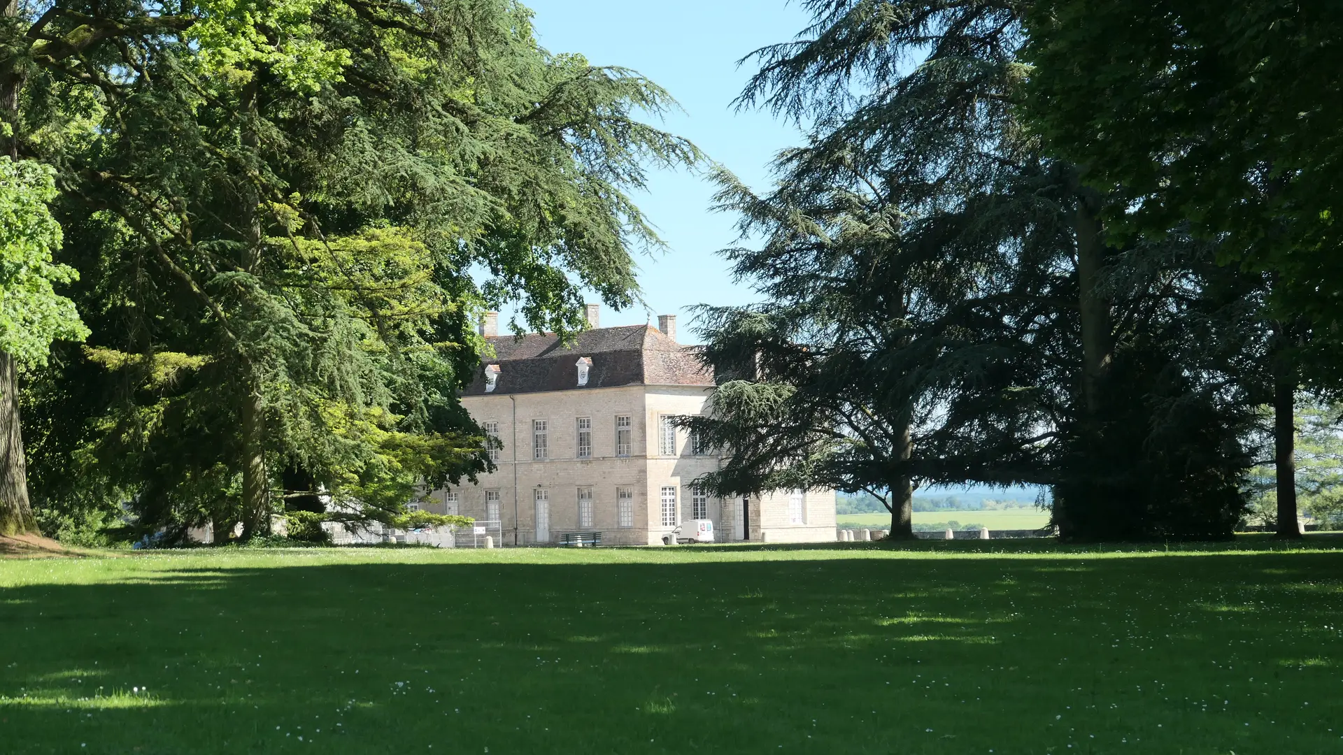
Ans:
{"type": "Polygon", "coordinates": [[[603,544],[661,544],[690,519],[713,520],[716,540],[834,540],[834,490],[784,490],[720,500],[693,481],[721,458],[698,447],[674,415],[704,411],[713,376],[676,341],[676,317],[659,328],[590,329],[564,345],[549,333],[483,335],[494,359],[462,392],[471,416],[502,443],[497,470],[478,485],[435,490],[427,508],[498,519],[506,544],[555,543],[600,532],[603,544]]]}

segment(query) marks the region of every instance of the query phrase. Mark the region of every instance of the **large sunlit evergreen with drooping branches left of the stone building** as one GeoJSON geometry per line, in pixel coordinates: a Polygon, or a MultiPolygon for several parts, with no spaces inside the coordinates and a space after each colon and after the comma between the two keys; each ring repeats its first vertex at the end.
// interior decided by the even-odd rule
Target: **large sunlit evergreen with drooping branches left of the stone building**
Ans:
{"type": "Polygon", "coordinates": [[[698,159],[634,118],[666,93],[548,54],[508,0],[183,17],[82,52],[97,75],[38,66],[27,83],[24,117],[71,134],[27,146],[60,169],[79,301],[99,313],[39,392],[91,412],[36,407],[39,458],[132,497],[144,527],[244,537],[275,490],[391,520],[420,481],[486,469],[455,399],[477,313],[517,301],[567,333],[583,286],[634,301],[630,250],[657,239],[627,192],[649,163],[698,159]]]}

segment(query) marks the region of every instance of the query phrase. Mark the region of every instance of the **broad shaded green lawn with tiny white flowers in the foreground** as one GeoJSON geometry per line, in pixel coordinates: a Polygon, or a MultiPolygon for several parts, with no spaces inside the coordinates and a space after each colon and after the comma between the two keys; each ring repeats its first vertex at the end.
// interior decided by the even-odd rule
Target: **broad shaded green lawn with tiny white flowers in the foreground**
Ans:
{"type": "Polygon", "coordinates": [[[0,562],[0,750],[1343,752],[1343,540],[1241,543],[0,562]]]}

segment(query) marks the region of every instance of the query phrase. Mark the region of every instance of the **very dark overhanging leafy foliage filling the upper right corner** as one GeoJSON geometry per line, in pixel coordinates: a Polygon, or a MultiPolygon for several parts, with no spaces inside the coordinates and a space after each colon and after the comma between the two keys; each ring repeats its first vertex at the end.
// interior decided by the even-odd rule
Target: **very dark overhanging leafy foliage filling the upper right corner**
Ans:
{"type": "Polygon", "coordinates": [[[1339,384],[1343,21],[1327,3],[1041,0],[1025,112],[1116,200],[1111,235],[1187,224],[1273,274],[1273,312],[1316,329],[1307,378],[1339,384]],[[1121,50],[1123,54],[1115,54],[1121,50]]]}

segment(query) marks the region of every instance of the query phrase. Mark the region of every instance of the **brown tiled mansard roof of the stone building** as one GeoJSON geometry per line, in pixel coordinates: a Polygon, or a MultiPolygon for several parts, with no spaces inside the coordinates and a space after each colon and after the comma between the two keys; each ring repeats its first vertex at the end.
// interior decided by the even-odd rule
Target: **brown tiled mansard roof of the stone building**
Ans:
{"type": "Polygon", "coordinates": [[[572,344],[555,333],[488,339],[494,357],[485,359],[462,395],[485,395],[485,365],[500,376],[490,394],[587,391],[614,386],[713,386],[713,372],[700,363],[698,347],[682,347],[657,328],[626,325],[584,330],[572,344]],[[586,386],[577,384],[580,357],[592,360],[586,386]]]}

